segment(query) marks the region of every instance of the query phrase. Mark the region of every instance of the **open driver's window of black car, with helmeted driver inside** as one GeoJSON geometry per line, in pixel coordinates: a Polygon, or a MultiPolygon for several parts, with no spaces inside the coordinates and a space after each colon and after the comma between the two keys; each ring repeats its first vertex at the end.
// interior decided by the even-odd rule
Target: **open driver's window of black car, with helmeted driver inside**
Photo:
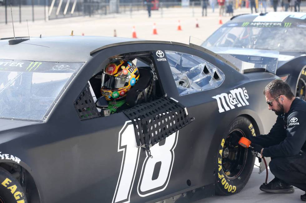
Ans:
{"type": "Polygon", "coordinates": [[[123,53],[103,61],[81,93],[83,96],[80,95],[88,96],[82,102],[79,98],[81,120],[119,113],[161,98],[163,93],[155,69],[151,51],[123,53]],[[91,107],[82,107],[88,103],[92,103],[91,107]],[[96,116],[87,111],[94,111],[96,116]]]}

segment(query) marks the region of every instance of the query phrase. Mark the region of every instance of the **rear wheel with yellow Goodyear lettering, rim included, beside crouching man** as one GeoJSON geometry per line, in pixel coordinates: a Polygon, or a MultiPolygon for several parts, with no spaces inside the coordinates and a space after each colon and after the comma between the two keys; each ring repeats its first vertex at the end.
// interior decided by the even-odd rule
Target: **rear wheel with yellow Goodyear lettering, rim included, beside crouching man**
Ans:
{"type": "Polygon", "coordinates": [[[234,133],[247,138],[256,136],[254,126],[248,118],[239,116],[230,123],[217,155],[216,195],[232,195],[241,191],[253,171],[255,157],[250,150],[231,143],[234,133]]]}

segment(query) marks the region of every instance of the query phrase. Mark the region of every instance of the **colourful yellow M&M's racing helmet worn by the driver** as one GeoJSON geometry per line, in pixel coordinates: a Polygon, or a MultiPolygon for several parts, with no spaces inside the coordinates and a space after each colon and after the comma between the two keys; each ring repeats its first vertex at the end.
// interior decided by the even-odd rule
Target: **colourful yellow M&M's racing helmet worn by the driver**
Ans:
{"type": "Polygon", "coordinates": [[[122,59],[112,61],[102,73],[101,95],[108,101],[122,99],[138,78],[139,71],[133,62],[122,59]]]}

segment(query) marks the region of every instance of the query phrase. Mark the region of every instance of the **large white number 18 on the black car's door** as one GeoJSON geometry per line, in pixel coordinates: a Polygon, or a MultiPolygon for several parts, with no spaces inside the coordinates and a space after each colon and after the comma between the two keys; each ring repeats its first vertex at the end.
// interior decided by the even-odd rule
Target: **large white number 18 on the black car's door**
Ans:
{"type": "MultiPolygon", "coordinates": [[[[131,122],[126,122],[119,132],[118,152],[123,151],[123,157],[112,203],[130,202],[138,167],[141,148],[137,147],[133,124],[128,123],[131,122]]],[[[173,167],[177,137],[178,131],[152,146],[150,148],[152,159],[146,153],[137,187],[139,196],[149,196],[167,187],[173,167]]]]}

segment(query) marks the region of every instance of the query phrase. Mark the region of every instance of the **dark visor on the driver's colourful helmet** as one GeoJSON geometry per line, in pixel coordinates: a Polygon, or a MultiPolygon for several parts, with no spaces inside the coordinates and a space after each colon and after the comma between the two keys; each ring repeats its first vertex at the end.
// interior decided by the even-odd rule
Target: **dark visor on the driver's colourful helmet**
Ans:
{"type": "Polygon", "coordinates": [[[126,76],[116,77],[102,73],[102,83],[101,83],[102,88],[115,90],[127,86],[128,84],[129,84],[129,79],[126,76]]]}

